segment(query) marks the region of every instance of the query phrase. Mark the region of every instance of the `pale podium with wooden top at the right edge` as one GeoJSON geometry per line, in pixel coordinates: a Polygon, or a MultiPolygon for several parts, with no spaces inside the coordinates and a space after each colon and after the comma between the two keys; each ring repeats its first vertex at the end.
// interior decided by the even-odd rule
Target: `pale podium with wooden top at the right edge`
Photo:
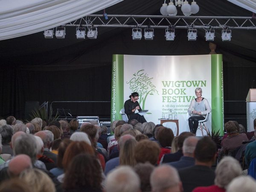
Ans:
{"type": "Polygon", "coordinates": [[[256,89],[250,89],[246,97],[247,132],[254,131],[253,120],[256,119],[256,89]]]}

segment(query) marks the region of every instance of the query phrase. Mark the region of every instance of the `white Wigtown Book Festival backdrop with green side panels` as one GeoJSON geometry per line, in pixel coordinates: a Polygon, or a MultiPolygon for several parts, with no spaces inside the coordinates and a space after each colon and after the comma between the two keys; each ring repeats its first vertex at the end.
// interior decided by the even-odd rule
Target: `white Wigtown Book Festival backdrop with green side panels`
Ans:
{"type": "Polygon", "coordinates": [[[222,55],[113,55],[111,120],[122,119],[124,102],[138,92],[141,108],[149,110],[148,122],[159,124],[171,115],[179,120],[179,133],[189,131],[187,109],[201,87],[212,108],[206,126],[222,134],[222,74],[222,55]]]}

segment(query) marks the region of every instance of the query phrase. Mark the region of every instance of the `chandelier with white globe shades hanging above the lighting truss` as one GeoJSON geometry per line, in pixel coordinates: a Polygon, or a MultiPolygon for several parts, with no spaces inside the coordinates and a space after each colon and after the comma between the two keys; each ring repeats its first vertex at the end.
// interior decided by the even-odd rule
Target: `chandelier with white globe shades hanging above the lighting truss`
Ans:
{"type": "Polygon", "coordinates": [[[183,12],[183,15],[189,16],[191,14],[196,14],[199,11],[199,6],[193,0],[191,2],[191,5],[187,0],[171,0],[171,2],[167,5],[166,0],[163,3],[163,6],[160,8],[160,13],[162,15],[170,15],[170,16],[175,16],[177,15],[177,8],[181,7],[181,11],[183,12]],[[175,1],[175,3],[173,3],[175,1]]]}

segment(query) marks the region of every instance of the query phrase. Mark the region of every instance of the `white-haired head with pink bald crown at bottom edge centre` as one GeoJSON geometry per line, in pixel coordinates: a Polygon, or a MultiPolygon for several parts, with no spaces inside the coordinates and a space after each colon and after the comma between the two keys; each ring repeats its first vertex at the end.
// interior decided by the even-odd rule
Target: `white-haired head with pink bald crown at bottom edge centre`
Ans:
{"type": "Polygon", "coordinates": [[[140,178],[129,166],[119,166],[105,180],[105,192],[140,192],[140,178]]]}

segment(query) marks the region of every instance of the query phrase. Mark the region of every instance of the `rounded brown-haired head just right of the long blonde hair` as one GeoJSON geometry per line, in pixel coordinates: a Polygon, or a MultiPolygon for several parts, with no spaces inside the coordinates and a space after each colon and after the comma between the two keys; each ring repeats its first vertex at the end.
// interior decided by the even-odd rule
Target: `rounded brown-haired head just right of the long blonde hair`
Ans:
{"type": "Polygon", "coordinates": [[[140,141],[134,151],[134,157],[137,163],[149,162],[152,165],[157,163],[160,154],[160,147],[156,142],[150,140],[140,141]]]}

